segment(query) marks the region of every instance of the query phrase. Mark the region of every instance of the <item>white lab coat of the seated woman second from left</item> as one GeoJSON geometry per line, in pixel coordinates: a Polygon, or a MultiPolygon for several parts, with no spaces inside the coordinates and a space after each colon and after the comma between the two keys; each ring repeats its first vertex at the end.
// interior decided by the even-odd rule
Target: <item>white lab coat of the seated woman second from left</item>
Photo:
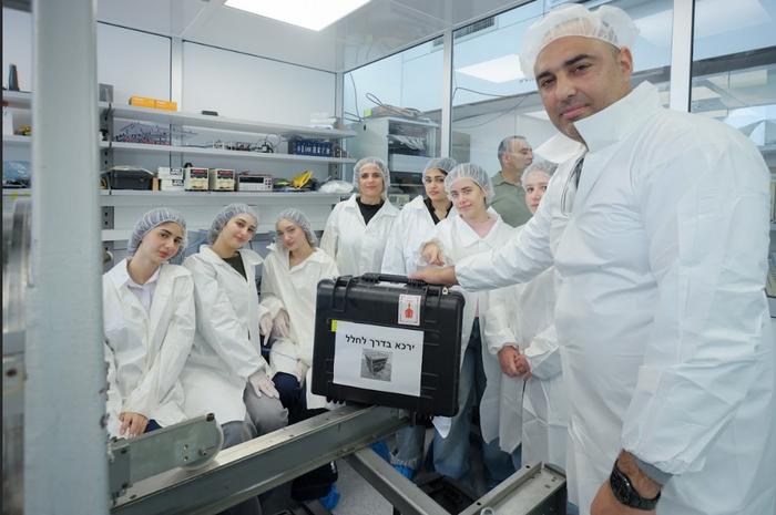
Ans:
{"type": "Polygon", "coordinates": [[[186,415],[214,413],[219,424],[245,420],[243,392],[248,377],[267,370],[258,334],[258,254],[241,249],[244,278],[203,245],[183,266],[194,277],[196,334],[181,374],[186,415]]]}

